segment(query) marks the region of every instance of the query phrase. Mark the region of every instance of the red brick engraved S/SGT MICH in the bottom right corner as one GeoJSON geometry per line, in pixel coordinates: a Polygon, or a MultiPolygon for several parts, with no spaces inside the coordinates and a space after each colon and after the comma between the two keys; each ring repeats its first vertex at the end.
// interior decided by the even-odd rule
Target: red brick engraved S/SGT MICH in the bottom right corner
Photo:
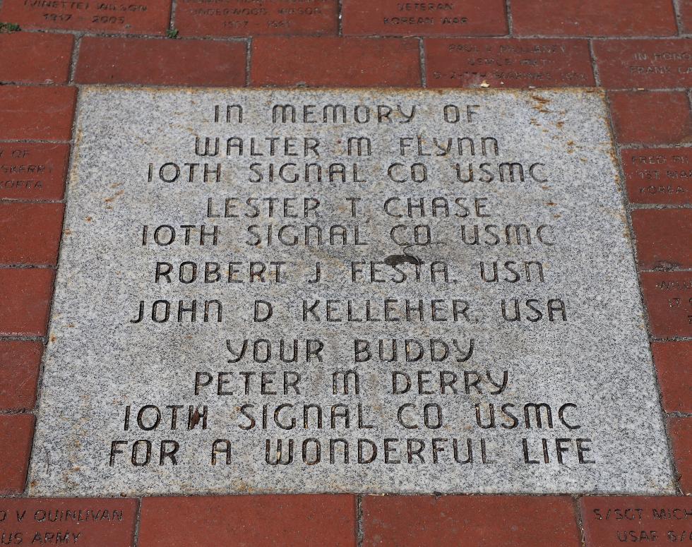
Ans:
{"type": "Polygon", "coordinates": [[[587,547],[692,541],[692,503],[682,496],[585,496],[579,501],[587,547]]]}

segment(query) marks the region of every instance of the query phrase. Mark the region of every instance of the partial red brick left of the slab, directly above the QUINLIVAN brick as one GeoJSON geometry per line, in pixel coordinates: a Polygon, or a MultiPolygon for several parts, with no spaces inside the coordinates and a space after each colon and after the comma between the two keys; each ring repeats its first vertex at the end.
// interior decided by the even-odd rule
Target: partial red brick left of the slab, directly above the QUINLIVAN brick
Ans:
{"type": "Polygon", "coordinates": [[[32,414],[0,414],[0,495],[24,491],[34,421],[32,414]]]}

